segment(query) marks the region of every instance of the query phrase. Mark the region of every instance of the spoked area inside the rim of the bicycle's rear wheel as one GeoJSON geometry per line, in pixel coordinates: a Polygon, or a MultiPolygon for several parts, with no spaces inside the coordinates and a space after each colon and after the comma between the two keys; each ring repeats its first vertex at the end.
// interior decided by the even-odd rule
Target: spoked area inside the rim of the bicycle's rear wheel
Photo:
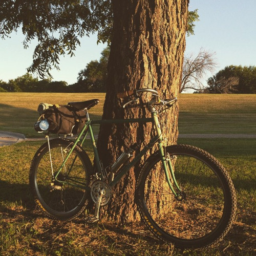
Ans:
{"type": "Polygon", "coordinates": [[[51,177],[48,152],[41,157],[36,174],[37,193],[40,195],[40,200],[48,210],[53,209],[59,214],[74,211],[78,205],[81,205],[87,186],[86,168],[76,151],[71,153],[59,172],[63,159],[66,159],[67,156],[67,152],[63,148],[68,149],[69,146],[57,145],[51,148],[53,172],[54,175],[58,173],[58,181],[51,177]],[[65,183],[67,181],[71,181],[71,183],[65,183]],[[72,185],[72,182],[74,185],[81,184],[81,187],[72,185]]]}

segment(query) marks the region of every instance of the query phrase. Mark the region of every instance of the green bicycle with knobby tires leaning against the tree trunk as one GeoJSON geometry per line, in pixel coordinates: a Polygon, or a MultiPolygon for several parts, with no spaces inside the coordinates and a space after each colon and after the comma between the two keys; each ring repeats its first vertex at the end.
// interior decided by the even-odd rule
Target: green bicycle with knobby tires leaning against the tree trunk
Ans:
{"type": "Polygon", "coordinates": [[[88,221],[96,222],[100,206],[111,200],[113,187],[157,144],[158,150],[146,159],[136,183],[135,199],[141,220],[157,238],[180,248],[199,248],[220,241],[236,213],[236,193],[228,173],[217,159],[198,147],[163,145],[158,117],[171,108],[177,98],[161,99],[153,89],[118,94],[118,98],[132,96],[135,99],[123,106],[146,108],[151,117],[91,120],[89,109],[99,102],[97,99],[68,103],[72,108],[83,110],[87,121],[75,141],[49,140],[48,137],[36,152],[29,177],[36,204],[48,217],[68,220],[80,215],[92,200],[95,212],[88,221]],[[144,93],[152,94],[152,99],[143,102],[144,93]],[[99,159],[92,125],[120,122],[152,122],[156,136],[133,160],[134,146],[123,152],[106,172],[99,159]],[[88,134],[95,168],[82,148],[88,134]]]}

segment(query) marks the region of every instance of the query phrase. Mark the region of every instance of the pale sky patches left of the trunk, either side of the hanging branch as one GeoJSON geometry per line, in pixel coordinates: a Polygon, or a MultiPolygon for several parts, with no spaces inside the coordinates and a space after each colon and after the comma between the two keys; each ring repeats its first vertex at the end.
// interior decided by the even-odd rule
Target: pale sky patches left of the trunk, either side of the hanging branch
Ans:
{"type": "MultiPolygon", "coordinates": [[[[28,49],[24,49],[24,36],[13,33],[11,38],[0,39],[0,80],[8,81],[17,76],[24,75],[31,65],[36,41],[32,42],[28,49]]],[[[60,57],[60,70],[52,70],[53,80],[66,81],[72,84],[77,81],[78,72],[84,69],[91,60],[99,59],[105,45],[97,45],[97,36],[91,35],[80,39],[81,46],[77,47],[75,56],[65,55],[60,57]]]]}

